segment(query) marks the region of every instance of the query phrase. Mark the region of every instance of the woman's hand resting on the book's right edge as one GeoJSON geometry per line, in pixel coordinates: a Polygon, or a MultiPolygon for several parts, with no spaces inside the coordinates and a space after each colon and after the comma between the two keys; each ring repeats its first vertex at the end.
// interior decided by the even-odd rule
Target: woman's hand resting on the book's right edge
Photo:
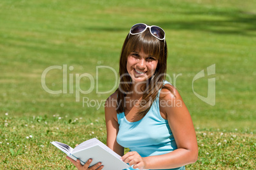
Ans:
{"type": "Polygon", "coordinates": [[[125,163],[129,163],[129,166],[133,165],[133,168],[136,169],[145,169],[146,162],[141,155],[138,154],[138,152],[128,152],[121,158],[125,163]]]}

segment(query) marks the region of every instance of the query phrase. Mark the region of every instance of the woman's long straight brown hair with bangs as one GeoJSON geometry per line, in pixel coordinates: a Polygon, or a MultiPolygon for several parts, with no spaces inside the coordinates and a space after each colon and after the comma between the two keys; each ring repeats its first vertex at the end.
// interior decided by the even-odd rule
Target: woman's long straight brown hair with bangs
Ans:
{"type": "Polygon", "coordinates": [[[157,68],[155,73],[146,81],[145,86],[143,86],[143,96],[139,104],[139,115],[146,115],[153,101],[157,98],[159,89],[166,88],[173,93],[172,89],[164,86],[164,80],[166,77],[166,62],[167,62],[167,45],[166,41],[160,41],[159,39],[152,36],[150,31],[147,29],[141,34],[127,35],[119,63],[119,76],[120,84],[117,89],[117,113],[120,114],[125,110],[125,96],[132,91],[132,79],[127,71],[127,57],[132,51],[141,51],[147,55],[155,56],[158,60],[157,68]]]}

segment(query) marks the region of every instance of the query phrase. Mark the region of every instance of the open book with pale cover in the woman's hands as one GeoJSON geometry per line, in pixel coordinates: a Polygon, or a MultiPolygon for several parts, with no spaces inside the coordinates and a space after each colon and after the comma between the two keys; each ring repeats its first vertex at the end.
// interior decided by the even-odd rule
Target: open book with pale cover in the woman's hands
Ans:
{"type": "Polygon", "coordinates": [[[60,143],[59,141],[52,141],[51,143],[72,159],[79,159],[82,165],[91,158],[92,162],[90,166],[97,164],[97,162],[101,162],[104,166],[103,169],[106,170],[122,170],[130,167],[120,159],[120,155],[113,152],[113,150],[96,138],[84,141],[75,148],[71,148],[64,143],[60,143]]]}

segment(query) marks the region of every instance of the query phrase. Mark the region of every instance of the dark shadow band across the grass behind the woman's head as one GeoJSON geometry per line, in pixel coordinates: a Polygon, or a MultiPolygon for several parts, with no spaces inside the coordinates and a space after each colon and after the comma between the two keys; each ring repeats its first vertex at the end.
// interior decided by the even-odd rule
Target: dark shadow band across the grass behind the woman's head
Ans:
{"type": "MultiPolygon", "coordinates": [[[[215,34],[235,34],[255,36],[256,14],[245,11],[199,11],[173,13],[180,15],[182,20],[173,20],[170,16],[165,22],[153,22],[150,25],[159,25],[165,30],[197,30],[215,34]],[[185,16],[185,17],[184,17],[185,16]],[[187,18],[187,20],[183,19],[187,18]]],[[[131,23],[131,25],[134,23],[131,23]]],[[[104,25],[99,27],[85,27],[86,30],[105,32],[129,31],[125,25],[104,25]]]]}

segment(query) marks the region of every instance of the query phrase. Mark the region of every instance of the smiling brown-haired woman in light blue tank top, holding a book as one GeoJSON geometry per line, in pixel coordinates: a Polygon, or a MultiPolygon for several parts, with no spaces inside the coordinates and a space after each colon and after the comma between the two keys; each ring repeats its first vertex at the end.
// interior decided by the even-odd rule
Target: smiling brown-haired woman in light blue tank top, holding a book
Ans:
{"type": "MultiPolygon", "coordinates": [[[[120,56],[120,86],[105,104],[107,145],[123,155],[129,169],[181,170],[197,160],[192,119],[165,80],[166,60],[164,30],[144,23],[132,26],[120,56]],[[124,147],[130,152],[124,154],[124,147]]],[[[89,160],[84,166],[74,164],[78,169],[104,166],[99,162],[89,168],[89,160]]]]}

